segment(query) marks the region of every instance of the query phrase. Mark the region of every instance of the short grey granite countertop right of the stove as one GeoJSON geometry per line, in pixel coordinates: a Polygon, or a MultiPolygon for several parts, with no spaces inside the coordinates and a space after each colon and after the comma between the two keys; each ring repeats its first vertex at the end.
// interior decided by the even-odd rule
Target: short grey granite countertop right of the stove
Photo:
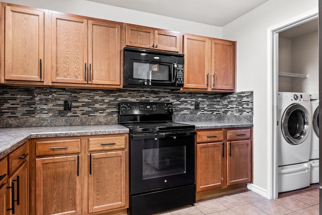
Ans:
{"type": "Polygon", "coordinates": [[[250,122],[231,122],[231,121],[185,121],[185,122],[178,122],[178,123],[194,125],[195,126],[195,129],[253,127],[253,123],[250,123],[250,122]]]}

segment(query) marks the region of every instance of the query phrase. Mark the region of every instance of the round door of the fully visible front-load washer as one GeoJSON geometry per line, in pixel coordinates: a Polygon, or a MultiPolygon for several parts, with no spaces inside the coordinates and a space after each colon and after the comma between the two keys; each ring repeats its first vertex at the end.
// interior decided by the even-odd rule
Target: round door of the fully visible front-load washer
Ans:
{"type": "Polygon", "coordinates": [[[286,141],[291,145],[301,144],[308,136],[309,114],[305,107],[299,104],[291,104],[286,108],[282,116],[282,133],[286,141]]]}

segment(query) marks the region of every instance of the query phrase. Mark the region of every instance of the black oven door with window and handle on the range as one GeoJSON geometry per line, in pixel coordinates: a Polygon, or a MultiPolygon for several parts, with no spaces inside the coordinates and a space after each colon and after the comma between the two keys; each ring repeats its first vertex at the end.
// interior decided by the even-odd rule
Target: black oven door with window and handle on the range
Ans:
{"type": "Polygon", "coordinates": [[[195,133],[132,134],[131,195],[194,184],[195,133]]]}

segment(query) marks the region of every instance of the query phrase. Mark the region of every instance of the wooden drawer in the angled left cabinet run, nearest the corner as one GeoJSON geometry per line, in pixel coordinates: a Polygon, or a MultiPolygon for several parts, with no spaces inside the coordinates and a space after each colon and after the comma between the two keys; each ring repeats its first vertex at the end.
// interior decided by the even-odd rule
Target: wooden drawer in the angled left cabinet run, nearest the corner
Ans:
{"type": "Polygon", "coordinates": [[[9,154],[9,175],[24,163],[28,158],[28,144],[24,144],[9,154]]]}

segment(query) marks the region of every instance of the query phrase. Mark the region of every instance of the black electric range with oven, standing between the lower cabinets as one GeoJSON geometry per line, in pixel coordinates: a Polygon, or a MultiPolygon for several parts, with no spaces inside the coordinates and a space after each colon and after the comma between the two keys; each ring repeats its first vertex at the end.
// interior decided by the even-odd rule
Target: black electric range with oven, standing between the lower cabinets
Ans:
{"type": "Polygon", "coordinates": [[[131,215],[196,201],[195,126],[172,122],[172,114],[172,103],[119,103],[119,124],[130,129],[131,215]]]}

